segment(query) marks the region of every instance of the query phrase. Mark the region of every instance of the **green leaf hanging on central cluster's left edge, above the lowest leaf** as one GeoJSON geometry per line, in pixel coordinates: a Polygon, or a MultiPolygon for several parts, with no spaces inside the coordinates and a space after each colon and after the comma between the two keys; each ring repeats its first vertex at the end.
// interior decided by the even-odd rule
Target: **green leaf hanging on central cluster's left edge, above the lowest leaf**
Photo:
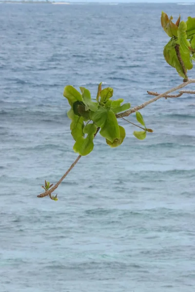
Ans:
{"type": "Polygon", "coordinates": [[[83,133],[83,128],[84,128],[84,123],[83,123],[83,118],[79,117],[78,115],[76,115],[73,111],[73,109],[70,109],[67,113],[69,119],[72,120],[72,123],[70,125],[70,129],[71,129],[71,134],[74,138],[75,141],[77,141],[77,139],[79,137],[83,137],[84,133],[83,133]]]}

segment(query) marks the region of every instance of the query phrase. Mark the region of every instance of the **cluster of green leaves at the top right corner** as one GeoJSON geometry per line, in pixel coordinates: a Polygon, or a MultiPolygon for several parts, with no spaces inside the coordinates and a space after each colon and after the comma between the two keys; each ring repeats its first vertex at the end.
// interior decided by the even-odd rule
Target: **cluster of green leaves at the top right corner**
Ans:
{"type": "Polygon", "coordinates": [[[195,18],[189,17],[188,20],[180,21],[180,16],[176,23],[172,21],[166,13],[162,12],[161,25],[169,37],[170,41],[164,47],[164,57],[169,65],[176,68],[178,74],[185,78],[182,66],[177,58],[175,47],[179,45],[179,52],[183,64],[187,70],[193,68],[192,61],[195,60],[195,18]]]}

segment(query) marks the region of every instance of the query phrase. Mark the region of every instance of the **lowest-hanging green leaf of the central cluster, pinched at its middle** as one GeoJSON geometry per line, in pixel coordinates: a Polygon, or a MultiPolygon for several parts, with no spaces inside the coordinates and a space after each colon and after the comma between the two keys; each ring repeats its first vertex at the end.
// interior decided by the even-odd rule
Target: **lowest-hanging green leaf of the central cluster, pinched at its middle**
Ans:
{"type": "Polygon", "coordinates": [[[88,134],[86,138],[79,137],[73,146],[75,152],[79,153],[82,156],[89,154],[94,148],[94,134],[97,131],[97,126],[95,123],[88,124],[83,128],[83,132],[88,134]]]}

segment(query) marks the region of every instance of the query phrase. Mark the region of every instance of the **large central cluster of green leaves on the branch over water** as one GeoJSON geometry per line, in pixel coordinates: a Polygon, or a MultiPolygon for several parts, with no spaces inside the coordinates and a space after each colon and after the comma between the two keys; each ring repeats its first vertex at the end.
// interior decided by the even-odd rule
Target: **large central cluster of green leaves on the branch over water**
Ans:
{"type": "Polygon", "coordinates": [[[89,154],[94,148],[93,139],[98,128],[109,146],[121,145],[125,129],[118,125],[116,114],[129,110],[130,103],[122,104],[122,98],[111,100],[113,88],[101,90],[101,83],[96,99],[92,99],[90,91],[84,87],[80,87],[80,91],[68,85],[63,93],[71,106],[68,117],[72,120],[70,129],[75,140],[74,151],[82,156],[89,154]]]}

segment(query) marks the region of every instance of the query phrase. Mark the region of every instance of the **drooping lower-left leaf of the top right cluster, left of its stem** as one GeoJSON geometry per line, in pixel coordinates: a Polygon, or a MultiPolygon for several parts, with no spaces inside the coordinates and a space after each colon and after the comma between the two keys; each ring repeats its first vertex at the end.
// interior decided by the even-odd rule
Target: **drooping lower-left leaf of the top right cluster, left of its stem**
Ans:
{"type": "Polygon", "coordinates": [[[172,67],[176,68],[176,71],[179,74],[179,76],[185,78],[185,74],[183,73],[182,67],[176,56],[175,46],[176,46],[175,39],[171,38],[170,41],[164,47],[163,55],[167,63],[172,67]]]}

